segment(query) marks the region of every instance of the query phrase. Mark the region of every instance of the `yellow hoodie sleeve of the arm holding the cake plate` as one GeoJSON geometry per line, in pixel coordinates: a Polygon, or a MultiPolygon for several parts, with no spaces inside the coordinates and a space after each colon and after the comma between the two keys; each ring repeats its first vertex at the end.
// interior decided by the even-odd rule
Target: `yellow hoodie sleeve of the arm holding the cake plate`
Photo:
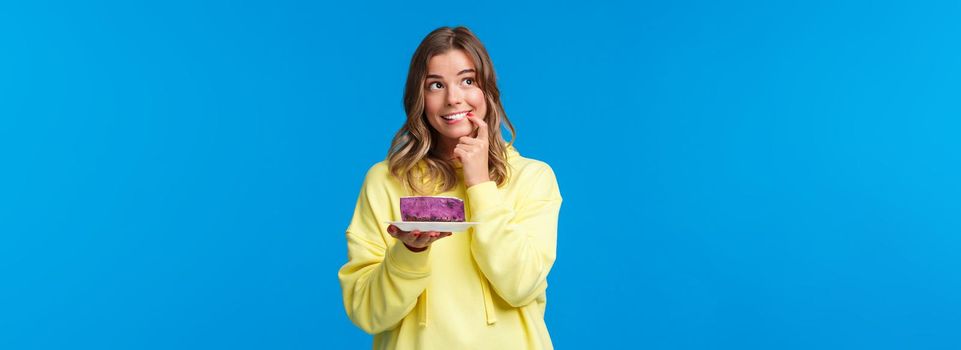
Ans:
{"type": "Polygon", "coordinates": [[[391,220],[392,206],[385,176],[372,169],[364,180],[347,228],[348,261],[338,273],[347,316],[369,334],[396,327],[430,277],[430,249],[414,253],[387,233],[383,222],[391,220]]]}

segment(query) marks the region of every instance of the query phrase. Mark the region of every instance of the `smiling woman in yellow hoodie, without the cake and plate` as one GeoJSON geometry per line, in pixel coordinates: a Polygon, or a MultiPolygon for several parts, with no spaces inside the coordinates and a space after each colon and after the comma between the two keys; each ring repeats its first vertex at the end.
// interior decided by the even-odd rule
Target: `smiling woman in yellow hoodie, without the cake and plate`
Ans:
{"type": "Polygon", "coordinates": [[[442,27],[411,59],[407,121],[368,170],[340,269],[351,321],[375,349],[551,349],[544,324],[561,206],[554,172],[501,135],[514,128],[467,28],[442,27]],[[462,198],[466,232],[405,232],[400,197],[462,198]]]}

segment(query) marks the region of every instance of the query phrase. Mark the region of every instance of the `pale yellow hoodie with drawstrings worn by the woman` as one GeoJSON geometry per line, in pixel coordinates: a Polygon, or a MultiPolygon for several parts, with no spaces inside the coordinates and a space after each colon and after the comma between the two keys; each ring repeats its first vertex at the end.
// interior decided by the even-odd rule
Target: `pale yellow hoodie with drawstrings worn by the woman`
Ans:
{"type": "MultiPolygon", "coordinates": [[[[437,193],[480,224],[414,253],[387,233],[411,195],[382,161],[364,179],[340,269],[351,321],[374,349],[553,349],[544,324],[561,195],[546,163],[508,148],[510,179],[437,193]]],[[[462,168],[458,176],[463,179],[462,168]]]]}

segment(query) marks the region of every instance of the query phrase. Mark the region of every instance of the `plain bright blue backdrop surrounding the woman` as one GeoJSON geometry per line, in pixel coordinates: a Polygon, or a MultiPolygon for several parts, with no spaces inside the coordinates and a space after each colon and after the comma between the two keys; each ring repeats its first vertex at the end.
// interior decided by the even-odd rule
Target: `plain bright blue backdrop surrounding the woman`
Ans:
{"type": "Polygon", "coordinates": [[[961,347],[961,3],[0,5],[0,348],[368,348],[336,273],[465,24],[565,202],[560,349],[961,347]]]}

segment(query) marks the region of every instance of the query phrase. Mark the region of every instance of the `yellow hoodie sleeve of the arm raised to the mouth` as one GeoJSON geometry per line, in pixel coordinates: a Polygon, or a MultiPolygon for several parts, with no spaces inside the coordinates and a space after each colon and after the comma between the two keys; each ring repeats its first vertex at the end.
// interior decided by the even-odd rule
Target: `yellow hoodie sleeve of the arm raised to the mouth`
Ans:
{"type": "Polygon", "coordinates": [[[514,307],[530,304],[547,289],[561,207],[557,180],[547,164],[518,182],[530,191],[519,197],[516,210],[493,181],[467,189],[471,220],[480,222],[471,243],[474,260],[494,291],[514,307]]]}

